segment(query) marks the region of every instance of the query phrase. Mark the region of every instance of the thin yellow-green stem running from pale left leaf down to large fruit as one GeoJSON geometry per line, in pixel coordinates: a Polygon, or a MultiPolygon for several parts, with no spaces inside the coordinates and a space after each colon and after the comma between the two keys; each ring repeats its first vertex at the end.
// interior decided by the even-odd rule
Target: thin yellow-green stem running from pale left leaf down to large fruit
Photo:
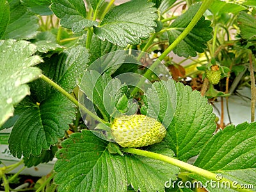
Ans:
{"type": "Polygon", "coordinates": [[[69,100],[71,100],[71,102],[73,102],[78,108],[82,109],[85,113],[92,116],[92,118],[101,122],[102,124],[108,124],[108,122],[105,122],[104,120],[99,118],[99,116],[92,113],[92,111],[90,111],[89,109],[84,107],[82,104],[79,104],[79,102],[74,97],[72,97],[72,95],[70,95],[68,92],[66,92],[60,85],[58,85],[57,83],[55,83],[54,81],[52,81],[48,77],[44,76],[44,74],[41,75],[41,79],[43,79],[46,83],[51,84],[51,86],[53,86],[54,88],[56,88],[56,90],[58,90],[63,95],[65,95],[65,97],[67,97],[69,100]]]}

